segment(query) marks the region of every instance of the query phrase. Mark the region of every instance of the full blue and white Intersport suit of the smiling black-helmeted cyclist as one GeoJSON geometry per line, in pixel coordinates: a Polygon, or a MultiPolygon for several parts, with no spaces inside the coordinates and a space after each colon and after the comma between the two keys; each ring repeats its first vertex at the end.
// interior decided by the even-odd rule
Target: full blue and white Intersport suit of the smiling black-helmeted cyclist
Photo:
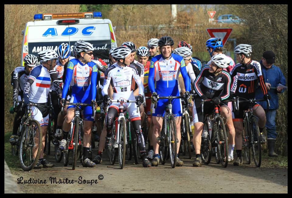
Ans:
{"type": "MultiPolygon", "coordinates": [[[[190,79],[186,71],[185,62],[181,56],[171,54],[169,60],[165,60],[162,55],[157,55],[151,59],[148,77],[150,91],[162,96],[179,96],[178,77],[181,72],[186,91],[190,90],[190,79]],[[156,81],[156,89],[154,82],[156,81]]],[[[153,116],[164,116],[167,99],[160,99],[157,107],[152,108],[153,116]]],[[[180,99],[172,100],[172,113],[174,116],[182,115],[182,105],[180,99]]]]}

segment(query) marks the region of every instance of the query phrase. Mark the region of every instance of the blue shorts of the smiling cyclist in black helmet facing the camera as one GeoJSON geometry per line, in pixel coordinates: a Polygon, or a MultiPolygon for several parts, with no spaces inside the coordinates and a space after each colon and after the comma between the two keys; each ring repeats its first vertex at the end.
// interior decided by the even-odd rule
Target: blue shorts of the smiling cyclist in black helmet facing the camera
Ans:
{"type": "MultiPolygon", "coordinates": [[[[159,99],[157,101],[156,108],[152,108],[152,116],[163,117],[165,113],[165,107],[168,104],[168,99],[159,99]]],[[[171,101],[172,104],[172,114],[174,117],[182,116],[182,103],[180,98],[175,98],[171,101]]]]}

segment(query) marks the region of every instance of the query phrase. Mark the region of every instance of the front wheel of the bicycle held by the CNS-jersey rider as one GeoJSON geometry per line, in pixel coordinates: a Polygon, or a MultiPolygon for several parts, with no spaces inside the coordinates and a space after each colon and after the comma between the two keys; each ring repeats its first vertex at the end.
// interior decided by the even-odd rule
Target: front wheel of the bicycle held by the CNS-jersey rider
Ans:
{"type": "Polygon", "coordinates": [[[216,153],[221,162],[222,167],[228,165],[228,139],[225,125],[220,115],[216,115],[213,123],[212,133],[215,133],[216,153]]]}

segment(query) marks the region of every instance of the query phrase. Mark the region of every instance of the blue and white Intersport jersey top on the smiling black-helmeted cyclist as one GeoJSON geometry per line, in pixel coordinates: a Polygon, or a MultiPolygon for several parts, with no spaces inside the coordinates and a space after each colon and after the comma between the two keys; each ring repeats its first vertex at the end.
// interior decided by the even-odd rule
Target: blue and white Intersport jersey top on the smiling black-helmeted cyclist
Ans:
{"type": "Polygon", "coordinates": [[[178,77],[182,74],[186,91],[190,90],[190,79],[181,56],[171,54],[169,60],[157,55],[151,59],[148,86],[151,91],[164,96],[179,96],[178,77]],[[156,90],[154,82],[156,81],[156,90]]]}

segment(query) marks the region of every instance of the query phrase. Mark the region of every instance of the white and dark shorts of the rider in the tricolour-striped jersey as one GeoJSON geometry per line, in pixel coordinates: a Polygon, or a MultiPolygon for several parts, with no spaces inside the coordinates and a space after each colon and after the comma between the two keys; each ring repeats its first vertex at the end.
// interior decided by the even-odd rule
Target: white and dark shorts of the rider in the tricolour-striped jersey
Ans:
{"type": "MultiPolygon", "coordinates": [[[[46,103],[37,103],[41,105],[46,105],[46,103]]],[[[27,106],[29,109],[29,106],[27,106]]],[[[48,126],[49,124],[49,110],[44,107],[32,106],[31,108],[33,119],[40,123],[40,126],[48,126]]]]}

